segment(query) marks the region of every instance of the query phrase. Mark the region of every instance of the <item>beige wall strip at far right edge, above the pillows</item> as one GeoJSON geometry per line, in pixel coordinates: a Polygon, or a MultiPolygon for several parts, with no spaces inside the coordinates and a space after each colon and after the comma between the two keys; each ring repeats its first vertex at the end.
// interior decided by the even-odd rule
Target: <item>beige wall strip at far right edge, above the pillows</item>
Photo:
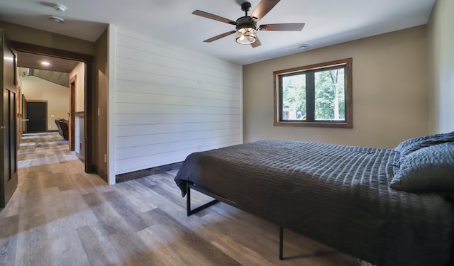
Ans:
{"type": "Polygon", "coordinates": [[[428,21],[429,132],[454,131],[454,1],[437,0],[428,21]]]}

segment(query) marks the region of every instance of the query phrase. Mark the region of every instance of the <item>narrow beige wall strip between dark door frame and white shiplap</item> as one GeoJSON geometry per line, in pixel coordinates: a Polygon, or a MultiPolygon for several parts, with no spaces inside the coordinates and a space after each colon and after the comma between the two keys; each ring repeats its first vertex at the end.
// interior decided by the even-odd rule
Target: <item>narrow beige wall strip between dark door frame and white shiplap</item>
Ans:
{"type": "Polygon", "coordinates": [[[107,156],[107,99],[109,88],[108,71],[109,63],[107,59],[107,31],[105,31],[98,40],[96,40],[96,62],[95,62],[95,82],[96,89],[94,96],[94,111],[96,113],[96,126],[94,128],[94,142],[98,143],[94,150],[95,165],[98,167],[98,173],[107,181],[107,162],[104,161],[104,155],[107,156]],[[99,115],[97,110],[99,109],[99,115]]]}

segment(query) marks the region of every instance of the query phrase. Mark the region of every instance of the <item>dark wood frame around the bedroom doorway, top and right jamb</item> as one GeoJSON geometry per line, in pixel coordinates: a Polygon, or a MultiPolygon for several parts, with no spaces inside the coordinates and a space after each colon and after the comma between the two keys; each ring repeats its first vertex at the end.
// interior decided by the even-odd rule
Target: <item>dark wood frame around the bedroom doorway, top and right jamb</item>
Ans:
{"type": "Polygon", "coordinates": [[[70,52],[55,48],[48,48],[40,45],[32,45],[29,43],[21,43],[17,41],[11,41],[11,46],[18,52],[31,52],[37,55],[49,55],[52,57],[60,57],[69,60],[75,60],[85,63],[85,92],[84,92],[84,109],[85,109],[85,172],[95,172],[96,167],[94,166],[93,158],[93,63],[94,57],[92,55],[85,55],[79,52],[70,52]]]}

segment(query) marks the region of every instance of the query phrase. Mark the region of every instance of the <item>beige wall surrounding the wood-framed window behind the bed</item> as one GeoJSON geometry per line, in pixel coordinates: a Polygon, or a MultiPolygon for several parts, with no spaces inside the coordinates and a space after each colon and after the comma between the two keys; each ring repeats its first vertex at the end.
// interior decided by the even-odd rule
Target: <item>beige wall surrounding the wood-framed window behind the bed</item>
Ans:
{"type": "Polygon", "coordinates": [[[289,139],[393,148],[428,133],[426,26],[243,67],[244,142],[289,139]],[[353,57],[353,128],[273,126],[275,70],[353,57]]]}

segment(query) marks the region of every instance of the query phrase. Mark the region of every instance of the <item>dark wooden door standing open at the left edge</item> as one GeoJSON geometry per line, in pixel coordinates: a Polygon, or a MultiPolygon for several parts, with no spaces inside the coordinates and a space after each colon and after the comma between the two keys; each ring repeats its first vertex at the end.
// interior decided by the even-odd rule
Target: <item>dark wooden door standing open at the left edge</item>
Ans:
{"type": "Polygon", "coordinates": [[[17,187],[17,55],[0,30],[0,208],[4,208],[17,187]],[[3,163],[1,163],[3,162],[3,163]]]}

